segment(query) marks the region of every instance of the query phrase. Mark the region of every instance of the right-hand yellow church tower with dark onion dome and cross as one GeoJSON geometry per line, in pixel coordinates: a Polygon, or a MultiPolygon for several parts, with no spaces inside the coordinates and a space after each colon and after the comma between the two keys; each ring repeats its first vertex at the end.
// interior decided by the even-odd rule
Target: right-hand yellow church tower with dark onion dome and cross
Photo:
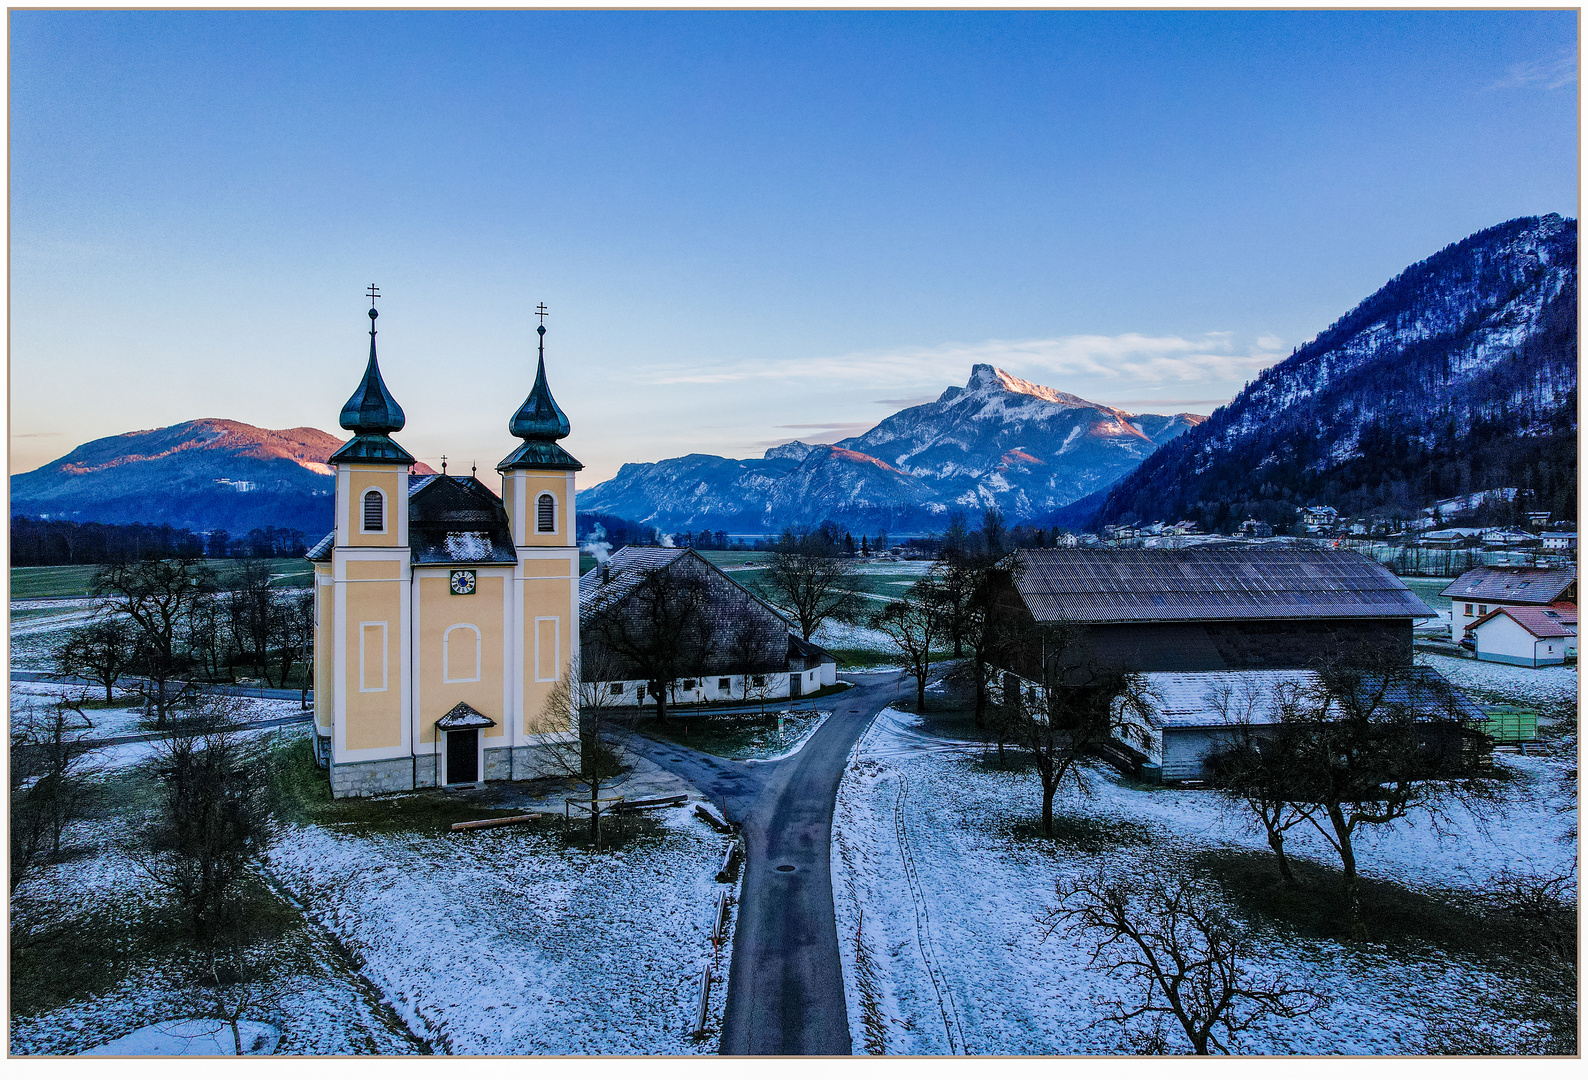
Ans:
{"type": "MultiPolygon", "coordinates": [[[[575,542],[573,480],[584,469],[557,445],[572,430],[546,383],[546,308],[540,305],[540,361],[535,386],[508,421],[519,446],[502,459],[502,502],[507,510],[518,570],[513,581],[518,686],[511,723],[515,743],[527,758],[548,739],[567,739],[540,713],[546,696],[580,646],[580,551],[575,542]]],[[[527,761],[526,761],[527,764],[527,761]]],[[[519,762],[515,761],[519,772],[519,762]]]]}

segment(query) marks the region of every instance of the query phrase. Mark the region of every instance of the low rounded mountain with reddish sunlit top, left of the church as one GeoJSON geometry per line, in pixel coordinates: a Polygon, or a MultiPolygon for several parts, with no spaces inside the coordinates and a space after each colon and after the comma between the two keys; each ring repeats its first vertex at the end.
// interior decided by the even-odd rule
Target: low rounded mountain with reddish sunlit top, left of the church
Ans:
{"type": "Polygon", "coordinates": [[[337,486],[326,459],[341,443],[316,427],[270,430],[235,419],[95,438],[11,476],[11,513],[233,535],[264,526],[324,532],[337,486]]]}

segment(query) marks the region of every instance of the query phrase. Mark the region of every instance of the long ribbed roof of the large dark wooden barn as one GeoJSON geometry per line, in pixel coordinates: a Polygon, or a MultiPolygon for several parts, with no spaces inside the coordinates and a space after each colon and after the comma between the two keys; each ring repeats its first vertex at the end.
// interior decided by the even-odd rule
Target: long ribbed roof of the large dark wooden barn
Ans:
{"type": "Polygon", "coordinates": [[[1039,623],[1434,615],[1388,569],[1323,548],[1021,551],[1015,588],[1039,623]]]}

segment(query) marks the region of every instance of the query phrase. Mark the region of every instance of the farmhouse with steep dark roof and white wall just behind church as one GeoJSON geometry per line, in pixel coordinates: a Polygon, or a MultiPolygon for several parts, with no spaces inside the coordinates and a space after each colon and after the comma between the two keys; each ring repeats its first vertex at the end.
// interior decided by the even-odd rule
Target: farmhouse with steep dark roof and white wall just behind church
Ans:
{"type": "Polygon", "coordinates": [[[757,702],[837,681],[837,661],[689,548],[622,548],[580,578],[583,700],[757,702]]]}

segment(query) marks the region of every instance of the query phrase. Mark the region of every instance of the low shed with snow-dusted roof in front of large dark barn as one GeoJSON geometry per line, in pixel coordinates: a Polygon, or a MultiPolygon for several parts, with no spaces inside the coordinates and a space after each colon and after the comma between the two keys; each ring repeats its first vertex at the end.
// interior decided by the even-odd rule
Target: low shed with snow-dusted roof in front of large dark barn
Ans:
{"type": "MultiPolygon", "coordinates": [[[[1154,672],[1143,680],[1151,707],[1145,716],[1132,716],[1134,724],[1123,726],[1132,732],[1124,742],[1137,751],[1137,772],[1164,783],[1207,780],[1210,754],[1242,739],[1261,740],[1288,710],[1309,708],[1323,689],[1318,672],[1307,669],[1154,672]]],[[[1431,737],[1440,737],[1439,729],[1455,723],[1467,731],[1466,743],[1490,723],[1488,713],[1431,667],[1410,667],[1385,680],[1390,686],[1382,691],[1383,700],[1429,724],[1431,737]]]]}

